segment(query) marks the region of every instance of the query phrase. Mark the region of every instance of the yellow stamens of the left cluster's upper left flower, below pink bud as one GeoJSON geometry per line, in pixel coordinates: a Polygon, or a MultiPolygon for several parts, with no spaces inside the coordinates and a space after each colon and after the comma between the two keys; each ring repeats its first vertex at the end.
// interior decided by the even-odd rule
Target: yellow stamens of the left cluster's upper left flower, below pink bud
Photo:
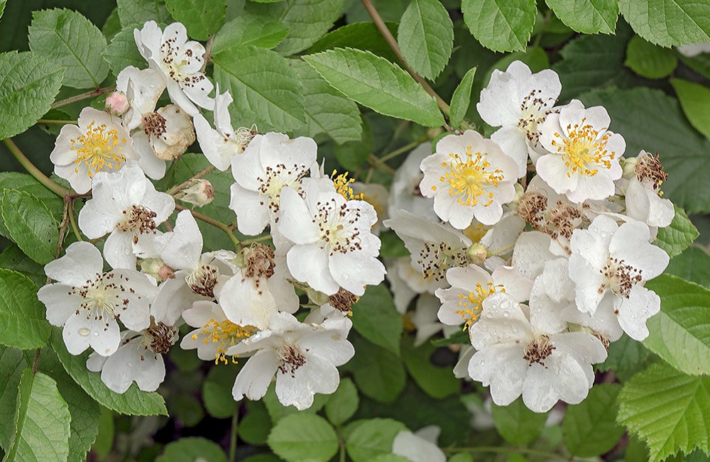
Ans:
{"type": "Polygon", "coordinates": [[[126,157],[121,153],[121,146],[125,144],[126,138],[120,138],[116,128],[109,130],[105,123],[94,125],[92,121],[87,126],[86,133],[79,138],[72,138],[71,150],[77,151],[77,164],[75,173],[79,173],[79,165],[87,166],[89,178],[93,178],[96,172],[114,168],[118,170],[121,164],[126,162],[126,157]]]}

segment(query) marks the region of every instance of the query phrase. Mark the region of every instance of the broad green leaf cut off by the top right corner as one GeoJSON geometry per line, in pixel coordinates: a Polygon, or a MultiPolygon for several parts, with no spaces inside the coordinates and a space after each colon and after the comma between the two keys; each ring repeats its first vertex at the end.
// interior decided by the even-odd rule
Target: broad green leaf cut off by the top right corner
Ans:
{"type": "Polygon", "coordinates": [[[621,14],[635,33],[670,47],[710,41],[710,4],[696,0],[619,0],[621,14]]]}

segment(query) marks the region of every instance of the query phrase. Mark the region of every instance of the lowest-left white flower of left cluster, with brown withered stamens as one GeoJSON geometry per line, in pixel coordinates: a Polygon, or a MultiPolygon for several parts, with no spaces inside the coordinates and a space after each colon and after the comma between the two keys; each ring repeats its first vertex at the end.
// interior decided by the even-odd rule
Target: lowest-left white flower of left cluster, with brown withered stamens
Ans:
{"type": "Polygon", "coordinates": [[[101,372],[103,383],[124,393],[136,382],[144,392],[154,392],[165,380],[163,354],[178,341],[178,327],[151,316],[151,325],[141,331],[121,332],[121,346],[104,358],[95,353],[87,358],[87,369],[101,372]]]}

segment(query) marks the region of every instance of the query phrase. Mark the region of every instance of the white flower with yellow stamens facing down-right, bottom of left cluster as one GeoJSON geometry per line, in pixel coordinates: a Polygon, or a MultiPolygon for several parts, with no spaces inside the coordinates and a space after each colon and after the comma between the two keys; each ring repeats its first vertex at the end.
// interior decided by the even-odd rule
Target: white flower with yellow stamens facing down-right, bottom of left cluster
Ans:
{"type": "Polygon", "coordinates": [[[251,336],[256,330],[252,326],[240,326],[226,319],[219,304],[209,300],[200,300],[192,304],[192,308],[182,312],[182,319],[197,327],[182,337],[180,348],[192,350],[197,348],[197,357],[203,361],[214,361],[215,364],[228,363],[226,351],[240,341],[251,336]]]}

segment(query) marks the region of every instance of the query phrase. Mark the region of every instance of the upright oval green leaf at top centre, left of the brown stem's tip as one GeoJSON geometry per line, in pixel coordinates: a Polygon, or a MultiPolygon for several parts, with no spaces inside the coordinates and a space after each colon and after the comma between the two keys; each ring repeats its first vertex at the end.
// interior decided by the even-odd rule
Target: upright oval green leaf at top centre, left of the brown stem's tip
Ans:
{"type": "Polygon", "coordinates": [[[436,79],[454,48],[454,23],[439,0],[412,0],[397,31],[402,54],[422,77],[436,79]]]}

